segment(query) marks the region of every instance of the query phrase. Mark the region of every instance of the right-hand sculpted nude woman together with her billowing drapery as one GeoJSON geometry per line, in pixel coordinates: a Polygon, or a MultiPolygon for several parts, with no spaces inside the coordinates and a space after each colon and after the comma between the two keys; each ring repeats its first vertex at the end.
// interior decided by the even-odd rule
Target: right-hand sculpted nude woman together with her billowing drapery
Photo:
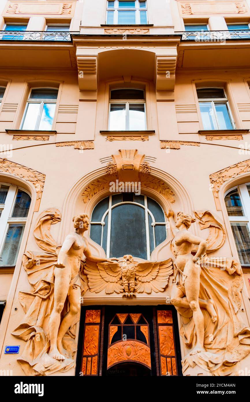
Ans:
{"type": "Polygon", "coordinates": [[[188,350],[183,374],[197,365],[211,375],[238,375],[237,363],[250,352],[250,328],[239,314],[242,269],[232,257],[210,256],[224,243],[225,230],[211,212],[195,215],[201,229],[209,228],[207,241],[188,231],[195,221],[190,215],[178,212],[175,222],[173,211],[166,213],[174,236],[171,303],[181,315],[180,334],[188,350]]]}

